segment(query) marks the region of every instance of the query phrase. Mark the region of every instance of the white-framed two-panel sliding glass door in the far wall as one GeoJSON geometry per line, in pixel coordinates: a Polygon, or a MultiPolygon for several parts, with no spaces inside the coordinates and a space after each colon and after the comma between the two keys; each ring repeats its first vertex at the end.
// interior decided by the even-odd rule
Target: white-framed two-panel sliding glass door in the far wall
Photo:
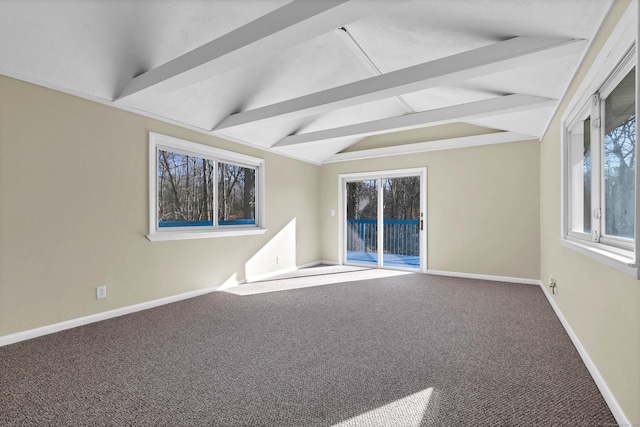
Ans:
{"type": "Polygon", "coordinates": [[[344,262],[422,270],[426,170],[341,177],[344,262]]]}

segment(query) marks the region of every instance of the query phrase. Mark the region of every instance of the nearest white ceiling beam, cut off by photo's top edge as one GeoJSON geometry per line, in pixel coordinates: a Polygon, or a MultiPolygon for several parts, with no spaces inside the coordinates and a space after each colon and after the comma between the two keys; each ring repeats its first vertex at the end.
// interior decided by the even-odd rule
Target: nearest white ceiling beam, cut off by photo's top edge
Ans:
{"type": "Polygon", "coordinates": [[[389,7],[366,0],[295,0],[134,77],[115,102],[136,105],[277,53],[389,7]]]}

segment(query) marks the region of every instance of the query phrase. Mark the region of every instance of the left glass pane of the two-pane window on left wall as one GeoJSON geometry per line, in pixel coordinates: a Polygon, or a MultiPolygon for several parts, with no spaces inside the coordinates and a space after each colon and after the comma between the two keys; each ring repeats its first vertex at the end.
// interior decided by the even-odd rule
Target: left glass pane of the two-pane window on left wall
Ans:
{"type": "Polygon", "coordinates": [[[158,227],[213,225],[213,161],[158,151],[158,227]]]}

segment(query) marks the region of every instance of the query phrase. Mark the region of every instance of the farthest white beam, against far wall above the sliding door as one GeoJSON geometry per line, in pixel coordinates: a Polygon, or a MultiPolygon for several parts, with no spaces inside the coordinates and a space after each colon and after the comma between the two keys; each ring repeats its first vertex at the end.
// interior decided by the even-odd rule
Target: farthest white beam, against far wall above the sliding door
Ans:
{"type": "Polygon", "coordinates": [[[346,162],[351,160],[373,159],[376,157],[398,156],[402,154],[425,153],[428,151],[451,150],[454,148],[477,147],[479,145],[502,144],[526,140],[537,140],[531,135],[517,132],[497,132],[483,135],[462,136],[458,138],[441,139],[438,141],[416,142],[412,144],[394,145],[391,147],[369,148],[358,151],[338,153],[322,163],[346,162]]]}

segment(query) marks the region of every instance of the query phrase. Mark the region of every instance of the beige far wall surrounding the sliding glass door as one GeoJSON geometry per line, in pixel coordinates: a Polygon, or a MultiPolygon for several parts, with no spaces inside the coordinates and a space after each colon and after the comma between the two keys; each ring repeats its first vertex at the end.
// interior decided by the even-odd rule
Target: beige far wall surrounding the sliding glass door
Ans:
{"type": "Polygon", "coordinates": [[[539,144],[487,145],[322,166],[322,256],[338,261],[338,174],[427,167],[428,268],[538,279],[539,144]]]}

